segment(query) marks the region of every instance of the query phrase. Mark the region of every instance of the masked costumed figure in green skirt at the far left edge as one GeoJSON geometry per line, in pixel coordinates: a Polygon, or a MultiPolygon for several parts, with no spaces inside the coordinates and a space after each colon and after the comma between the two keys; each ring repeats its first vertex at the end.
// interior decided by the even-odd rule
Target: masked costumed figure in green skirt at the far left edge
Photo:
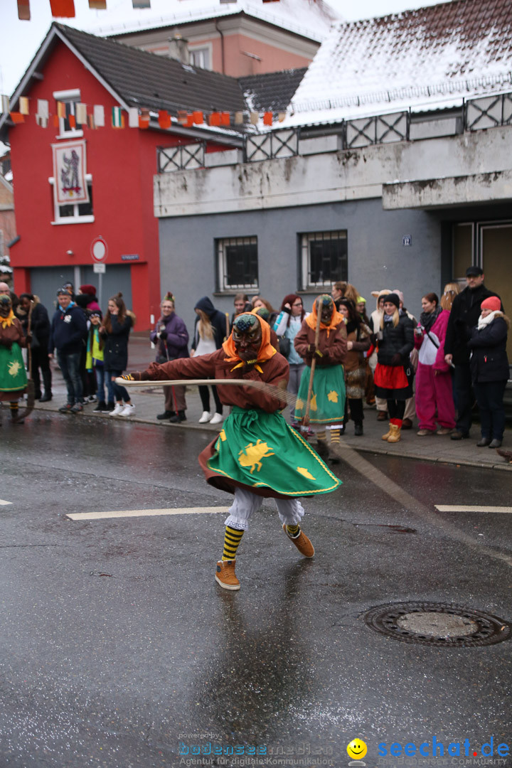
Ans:
{"type": "Polygon", "coordinates": [[[27,346],[21,323],[12,311],[11,296],[0,295],[0,401],[9,402],[13,422],[18,419],[18,399],[27,386],[21,347],[27,346]]]}

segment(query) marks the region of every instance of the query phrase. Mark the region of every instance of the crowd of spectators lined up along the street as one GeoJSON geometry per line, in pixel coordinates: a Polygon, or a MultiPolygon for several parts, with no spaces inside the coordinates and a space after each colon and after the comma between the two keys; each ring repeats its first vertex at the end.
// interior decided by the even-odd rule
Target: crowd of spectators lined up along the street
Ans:
{"type": "MultiPolygon", "coordinates": [[[[368,407],[375,408],[378,421],[388,422],[388,431],[382,439],[391,443],[398,442],[402,430],[411,429],[415,421],[417,434],[422,438],[449,435],[452,440],[467,439],[476,401],[481,422],[481,439],[477,445],[497,448],[504,436],[503,401],[509,377],[506,345],[510,321],[504,314],[500,297],[484,285],[481,267],[467,268],[466,283],[463,290],[458,283],[448,283],[441,299],[434,291],[425,293],[421,298],[419,321],[404,306],[404,294],[399,289],[372,291],[375,310],[371,311],[355,286],[341,281],[334,283],[329,300],[324,296],[323,306],[314,303],[311,308],[315,322],[318,319],[320,323],[315,310],[319,307],[322,313],[319,327],[328,331],[324,359],[322,349],[312,350],[315,346],[311,341],[314,338],[312,317],[297,293],[284,296],[279,310],[263,296],[239,293],[234,297],[231,317],[216,310],[210,298],[203,296],[194,307],[196,320],[190,336],[176,314],[172,293],[167,293],[160,305],[157,323],[150,332],[150,341],[155,349],[155,361],[160,364],[207,355],[220,349],[236,316],[258,313],[271,328],[271,343],[289,362],[288,389],[297,398],[301,382],[302,386],[306,379],[309,382],[315,356],[318,371],[323,369],[324,377],[325,366],[334,365],[328,361],[332,339],[327,342],[329,329],[333,329],[337,338],[343,339],[335,353],[335,366],[342,366],[339,399],[343,407],[342,413],[330,420],[336,439],[338,433],[345,432],[350,420],[354,434],[362,436],[368,407]],[[304,346],[306,336],[309,342],[304,346]]],[[[29,358],[26,362],[35,399],[40,402],[52,399],[51,361],[55,359],[67,390],[67,402],[59,408],[61,412],[75,414],[83,411],[88,403],[94,403],[94,412],[124,418],[134,414],[129,392],[115,381],[127,369],[130,330],[135,323],[134,313],[125,306],[121,293],[111,296],[103,315],[94,286],[82,285],[75,295],[74,286],[65,283],[57,291],[56,308],[51,317],[38,296],[31,293],[22,293],[18,298],[6,283],[0,283],[0,296],[4,297],[0,358],[2,355],[5,358],[0,360],[3,368],[0,399],[9,399],[11,404],[18,402],[23,390],[7,396],[5,386],[2,389],[5,379],[2,374],[8,366],[8,355],[16,352],[12,350],[16,346],[27,346],[30,355],[25,356],[29,358]],[[7,319],[11,316],[19,320],[22,331],[17,332],[19,338],[16,336],[14,343],[11,338],[15,335],[14,326],[11,328],[12,322],[7,319]]],[[[331,351],[331,354],[334,353],[331,351]]],[[[319,376],[317,373],[317,379],[319,376]]],[[[310,386],[309,399],[312,389],[310,386]]],[[[199,422],[222,422],[223,406],[216,387],[200,386],[200,399],[203,411],[199,422]]],[[[290,409],[290,420],[296,428],[303,421],[302,401],[303,398],[299,398],[300,406],[290,409]]],[[[313,404],[316,406],[315,399],[313,404]]],[[[187,419],[186,411],[185,386],[165,388],[164,411],[156,418],[183,422],[187,419]]],[[[324,421],[327,423],[329,419],[324,421]]]]}

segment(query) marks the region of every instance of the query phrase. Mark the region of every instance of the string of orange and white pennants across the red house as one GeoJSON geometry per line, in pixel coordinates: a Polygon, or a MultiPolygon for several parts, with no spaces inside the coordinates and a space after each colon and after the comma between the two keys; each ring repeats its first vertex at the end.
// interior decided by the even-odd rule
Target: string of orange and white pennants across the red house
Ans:
{"type": "MultiPolygon", "coordinates": [[[[18,111],[10,111],[10,103],[8,96],[2,96],[2,113],[10,115],[14,124],[25,123],[25,117],[30,113],[30,98],[28,96],[20,96],[18,111]]],[[[38,125],[45,128],[48,127],[48,123],[53,122],[54,127],[59,127],[59,120],[61,118],[67,119],[69,127],[71,129],[80,127],[89,128],[102,128],[105,127],[105,108],[103,104],[94,104],[92,111],[88,111],[88,105],[77,102],[74,104],[74,114],[68,114],[66,110],[66,103],[64,101],[57,102],[57,112],[51,114],[49,111],[49,104],[47,99],[38,99],[38,108],[35,113],[35,121],[38,125]]],[[[231,124],[242,125],[245,121],[246,114],[249,114],[249,123],[257,125],[262,117],[259,112],[235,112],[234,115],[230,112],[210,112],[205,114],[203,111],[194,110],[188,112],[187,110],[178,110],[177,122],[180,125],[186,127],[192,127],[193,125],[208,124],[210,126],[226,127],[231,124]],[[233,120],[232,120],[233,118],[233,120]]],[[[286,117],[286,112],[279,112],[277,120],[281,123],[286,117]]],[[[274,113],[263,112],[263,125],[273,125],[274,113]]],[[[172,118],[167,110],[158,111],[158,124],[160,128],[170,128],[172,125],[172,118]]],[[[150,126],[150,111],[148,109],[139,109],[138,107],[130,107],[125,111],[121,107],[111,108],[111,126],[113,128],[149,128],[150,126]]]]}

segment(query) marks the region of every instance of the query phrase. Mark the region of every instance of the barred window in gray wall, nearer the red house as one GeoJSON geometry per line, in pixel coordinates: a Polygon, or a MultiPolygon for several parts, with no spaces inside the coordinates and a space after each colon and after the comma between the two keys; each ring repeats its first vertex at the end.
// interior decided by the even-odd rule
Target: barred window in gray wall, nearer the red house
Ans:
{"type": "Polygon", "coordinates": [[[258,287],[258,238],[216,240],[219,290],[258,287]]]}

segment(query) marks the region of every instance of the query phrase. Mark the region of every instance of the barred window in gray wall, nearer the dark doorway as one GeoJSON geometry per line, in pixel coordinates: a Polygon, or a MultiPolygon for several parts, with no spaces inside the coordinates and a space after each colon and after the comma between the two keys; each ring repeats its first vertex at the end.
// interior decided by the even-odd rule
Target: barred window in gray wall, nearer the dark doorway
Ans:
{"type": "Polygon", "coordinates": [[[347,233],[312,232],[301,237],[302,290],[348,279],[347,233]]]}

